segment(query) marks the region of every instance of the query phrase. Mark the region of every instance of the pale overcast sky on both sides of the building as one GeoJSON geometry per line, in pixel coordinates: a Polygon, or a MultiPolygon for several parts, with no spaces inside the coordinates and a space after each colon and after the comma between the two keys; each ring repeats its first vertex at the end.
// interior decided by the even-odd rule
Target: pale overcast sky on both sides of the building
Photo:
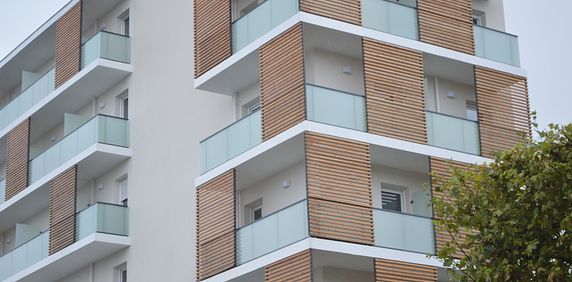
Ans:
{"type": "MultiPolygon", "coordinates": [[[[69,0],[0,0],[0,58],[69,0]]],[[[500,0],[489,0],[500,1],[500,0]]],[[[572,122],[572,0],[505,0],[507,32],[519,36],[540,127],[572,122]]]]}

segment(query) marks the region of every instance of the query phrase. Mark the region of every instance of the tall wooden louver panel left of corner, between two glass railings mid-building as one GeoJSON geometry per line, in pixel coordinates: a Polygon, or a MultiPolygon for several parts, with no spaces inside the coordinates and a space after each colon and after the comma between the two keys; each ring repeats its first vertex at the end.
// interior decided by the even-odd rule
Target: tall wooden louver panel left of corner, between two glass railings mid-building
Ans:
{"type": "Polygon", "coordinates": [[[304,121],[304,49],[298,24],[260,48],[262,139],[304,121]]]}

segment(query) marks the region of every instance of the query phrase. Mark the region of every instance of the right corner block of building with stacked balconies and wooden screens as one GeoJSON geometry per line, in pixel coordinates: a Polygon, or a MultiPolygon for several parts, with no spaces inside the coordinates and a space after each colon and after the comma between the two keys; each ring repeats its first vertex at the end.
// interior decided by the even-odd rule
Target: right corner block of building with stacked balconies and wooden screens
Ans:
{"type": "Polygon", "coordinates": [[[531,131],[498,0],[198,0],[197,280],[449,281],[435,177],[531,131]],[[218,111],[220,112],[220,111],[218,111]]]}

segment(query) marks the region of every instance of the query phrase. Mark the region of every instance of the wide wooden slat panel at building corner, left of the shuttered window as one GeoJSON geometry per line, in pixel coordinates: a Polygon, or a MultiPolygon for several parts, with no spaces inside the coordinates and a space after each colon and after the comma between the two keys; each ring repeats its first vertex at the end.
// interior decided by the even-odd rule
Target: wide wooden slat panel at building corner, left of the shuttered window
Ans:
{"type": "Polygon", "coordinates": [[[373,244],[369,144],[306,132],[310,236],[373,244]]]}

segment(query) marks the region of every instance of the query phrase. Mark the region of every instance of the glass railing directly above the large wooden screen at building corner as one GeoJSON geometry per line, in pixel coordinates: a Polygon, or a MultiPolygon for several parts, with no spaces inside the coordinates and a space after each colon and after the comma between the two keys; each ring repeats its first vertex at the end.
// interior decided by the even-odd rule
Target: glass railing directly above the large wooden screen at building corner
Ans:
{"type": "Polygon", "coordinates": [[[308,120],[366,131],[365,98],[306,85],[308,120]]]}

